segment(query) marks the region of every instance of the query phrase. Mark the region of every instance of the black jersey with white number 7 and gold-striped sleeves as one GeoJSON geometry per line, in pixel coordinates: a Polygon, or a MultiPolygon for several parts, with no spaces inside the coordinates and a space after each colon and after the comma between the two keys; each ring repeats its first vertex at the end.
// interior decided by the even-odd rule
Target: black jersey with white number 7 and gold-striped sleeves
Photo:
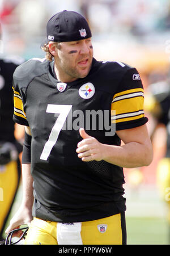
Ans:
{"type": "Polygon", "coordinates": [[[141,78],[121,62],[94,59],[86,78],[61,83],[54,78],[53,65],[34,58],[14,73],[14,121],[28,125],[32,133],[33,216],[76,222],[123,212],[123,169],[80,160],[75,152],[82,140],[78,124],[100,142],[120,145],[116,133],[107,136],[108,129],[101,128],[105,120],[94,125],[95,116],[90,123],[88,114],[109,113],[108,122],[116,130],[145,124],[141,78]]]}

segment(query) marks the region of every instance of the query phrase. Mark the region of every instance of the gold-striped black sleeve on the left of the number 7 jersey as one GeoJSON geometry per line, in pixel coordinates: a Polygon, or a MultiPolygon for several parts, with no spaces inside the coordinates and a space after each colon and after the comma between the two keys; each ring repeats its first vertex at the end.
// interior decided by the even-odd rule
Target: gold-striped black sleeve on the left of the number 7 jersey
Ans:
{"type": "Polygon", "coordinates": [[[12,89],[14,90],[13,120],[15,121],[15,123],[29,126],[26,114],[24,112],[22,95],[20,94],[19,90],[17,91],[16,89],[14,89],[14,86],[12,87],[12,89]]]}

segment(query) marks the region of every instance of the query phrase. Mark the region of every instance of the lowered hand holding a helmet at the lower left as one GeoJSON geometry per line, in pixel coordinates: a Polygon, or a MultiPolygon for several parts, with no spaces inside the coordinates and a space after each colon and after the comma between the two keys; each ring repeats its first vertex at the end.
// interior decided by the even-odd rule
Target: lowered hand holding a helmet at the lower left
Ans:
{"type": "MultiPolygon", "coordinates": [[[[10,225],[5,230],[5,233],[8,234],[11,230],[19,228],[21,225],[29,224],[32,221],[32,209],[28,209],[27,207],[20,207],[18,212],[15,213],[14,217],[12,217],[10,221],[10,225]]],[[[20,237],[22,234],[22,230],[19,232],[15,232],[16,237],[20,237]]]]}

